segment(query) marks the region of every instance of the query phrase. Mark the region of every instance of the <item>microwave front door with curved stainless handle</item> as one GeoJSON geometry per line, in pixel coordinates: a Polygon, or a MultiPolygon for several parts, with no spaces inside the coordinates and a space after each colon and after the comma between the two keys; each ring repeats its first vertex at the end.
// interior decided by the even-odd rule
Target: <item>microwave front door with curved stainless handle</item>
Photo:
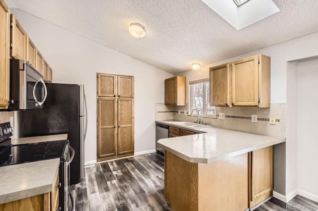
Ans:
{"type": "MultiPolygon", "coordinates": [[[[42,75],[31,66],[24,64],[25,71],[25,107],[20,109],[42,108],[47,97],[47,89],[42,75]]],[[[23,88],[20,86],[20,88],[23,88]]],[[[22,94],[23,92],[20,92],[22,94]]],[[[20,102],[23,102],[20,100],[20,102]]]]}

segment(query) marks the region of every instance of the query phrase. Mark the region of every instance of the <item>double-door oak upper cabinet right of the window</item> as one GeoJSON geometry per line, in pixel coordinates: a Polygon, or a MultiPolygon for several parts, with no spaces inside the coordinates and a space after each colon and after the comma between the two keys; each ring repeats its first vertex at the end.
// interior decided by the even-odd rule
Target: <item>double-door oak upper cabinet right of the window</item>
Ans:
{"type": "Polygon", "coordinates": [[[256,55],[210,68],[214,106],[270,107],[270,57],[256,55]]]}

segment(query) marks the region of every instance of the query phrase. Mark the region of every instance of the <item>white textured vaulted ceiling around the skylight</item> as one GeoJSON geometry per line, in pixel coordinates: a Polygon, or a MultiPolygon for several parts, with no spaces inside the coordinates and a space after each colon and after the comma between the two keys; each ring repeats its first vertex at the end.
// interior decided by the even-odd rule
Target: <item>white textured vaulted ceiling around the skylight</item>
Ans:
{"type": "Polygon", "coordinates": [[[280,12],[236,30],[201,0],[4,0],[170,73],[318,31],[317,0],[273,0],[280,12]],[[128,33],[138,22],[143,39],[128,33]]]}

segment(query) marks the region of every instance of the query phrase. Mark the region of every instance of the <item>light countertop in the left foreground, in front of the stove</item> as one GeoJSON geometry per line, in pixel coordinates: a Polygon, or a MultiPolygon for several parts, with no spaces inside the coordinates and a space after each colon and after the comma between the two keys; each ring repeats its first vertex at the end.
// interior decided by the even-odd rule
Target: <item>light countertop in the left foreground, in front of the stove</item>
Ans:
{"type": "Polygon", "coordinates": [[[0,204],[53,190],[60,158],[0,167],[0,204]]]}

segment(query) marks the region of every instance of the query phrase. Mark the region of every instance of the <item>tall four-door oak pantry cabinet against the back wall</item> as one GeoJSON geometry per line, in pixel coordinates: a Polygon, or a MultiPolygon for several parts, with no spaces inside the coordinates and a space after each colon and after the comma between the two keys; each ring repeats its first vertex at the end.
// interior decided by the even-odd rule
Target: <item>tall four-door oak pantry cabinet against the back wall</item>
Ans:
{"type": "Polygon", "coordinates": [[[133,76],[97,73],[99,161],[134,154],[133,86],[133,76]]]}

